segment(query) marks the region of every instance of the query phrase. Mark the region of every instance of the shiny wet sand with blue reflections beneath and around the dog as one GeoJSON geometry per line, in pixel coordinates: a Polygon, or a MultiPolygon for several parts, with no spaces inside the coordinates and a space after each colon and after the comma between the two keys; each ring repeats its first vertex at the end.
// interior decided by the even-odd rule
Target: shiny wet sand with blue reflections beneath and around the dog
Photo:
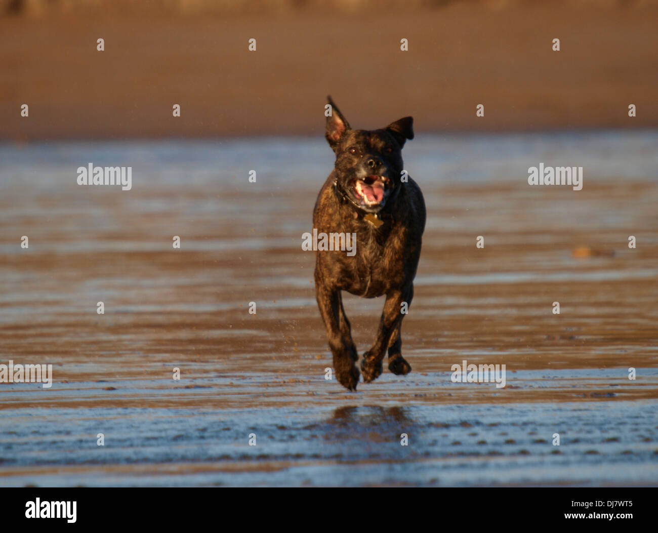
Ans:
{"type": "MultiPolygon", "coordinates": [[[[324,140],[0,146],[0,363],[54,374],[0,384],[0,484],[657,484],[655,134],[606,135],[410,143],[413,372],[357,393],[324,379],[301,251],[324,140]],[[582,191],[527,185],[527,161],[593,146],[582,191]],[[132,191],[77,186],[86,161],[134,165],[132,191]],[[464,359],[507,386],[451,382],[464,359]]],[[[345,297],[360,353],[382,304],[345,297]]]]}

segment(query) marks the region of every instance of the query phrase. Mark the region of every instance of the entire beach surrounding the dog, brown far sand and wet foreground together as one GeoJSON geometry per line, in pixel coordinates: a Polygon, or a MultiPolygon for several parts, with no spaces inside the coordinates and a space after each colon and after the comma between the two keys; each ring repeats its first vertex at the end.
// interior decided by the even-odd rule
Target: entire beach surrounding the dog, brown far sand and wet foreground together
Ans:
{"type": "MultiPolygon", "coordinates": [[[[647,0],[0,0],[0,486],[658,485],[657,21],[647,0]],[[302,249],[328,94],[354,128],[414,117],[428,213],[413,371],[356,393],[302,249]],[[130,190],[78,184],[96,165],[130,190]],[[530,184],[544,165],[582,188],[530,184]],[[455,381],[468,364],[504,386],[455,381]]],[[[383,300],[343,299],[363,354],[383,300]]]]}

